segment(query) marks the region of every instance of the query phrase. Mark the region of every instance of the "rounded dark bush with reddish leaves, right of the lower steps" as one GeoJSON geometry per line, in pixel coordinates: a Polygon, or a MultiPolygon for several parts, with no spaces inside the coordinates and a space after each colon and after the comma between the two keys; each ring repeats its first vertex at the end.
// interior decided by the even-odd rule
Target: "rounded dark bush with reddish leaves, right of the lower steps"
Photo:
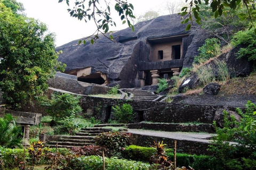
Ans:
{"type": "Polygon", "coordinates": [[[121,132],[103,132],[94,138],[96,144],[101,147],[106,147],[111,152],[116,154],[124,150],[124,147],[130,145],[132,142],[132,134],[121,132]]]}

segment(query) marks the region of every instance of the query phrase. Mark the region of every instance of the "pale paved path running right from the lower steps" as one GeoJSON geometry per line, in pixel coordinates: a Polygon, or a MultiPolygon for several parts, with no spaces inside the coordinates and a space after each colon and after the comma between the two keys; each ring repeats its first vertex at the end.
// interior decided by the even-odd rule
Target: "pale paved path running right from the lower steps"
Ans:
{"type": "Polygon", "coordinates": [[[203,143],[211,143],[211,140],[208,139],[211,138],[213,135],[216,135],[210,133],[164,132],[141,129],[128,129],[128,132],[134,134],[149,135],[153,137],[170,138],[175,140],[188,140],[203,143]]]}

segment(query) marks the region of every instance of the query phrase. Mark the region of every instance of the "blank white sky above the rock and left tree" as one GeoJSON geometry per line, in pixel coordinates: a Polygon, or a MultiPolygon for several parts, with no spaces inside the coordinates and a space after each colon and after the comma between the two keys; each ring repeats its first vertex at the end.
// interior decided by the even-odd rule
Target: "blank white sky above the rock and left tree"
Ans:
{"type": "MultiPolygon", "coordinates": [[[[83,38],[91,35],[95,31],[93,23],[85,23],[83,20],[78,21],[76,18],[71,18],[67,12],[69,8],[66,2],[58,3],[58,0],[17,0],[23,3],[27,16],[38,19],[44,22],[50,32],[56,35],[56,46],[69,43],[72,40],[83,38]]],[[[112,0],[113,1],[113,0],[112,0]]],[[[169,14],[165,9],[166,1],[181,1],[181,0],[128,0],[134,6],[134,15],[138,16],[147,11],[157,11],[160,15],[169,14]]],[[[185,0],[184,0],[185,1],[185,0]]],[[[73,5],[73,0],[70,0],[70,6],[73,5]]],[[[87,2],[87,1],[85,1],[87,2]]],[[[100,0],[101,2],[101,0],[100,0]]],[[[102,1],[103,2],[103,1],[102,1]]],[[[114,6],[113,1],[113,6],[114,6]]],[[[127,27],[127,23],[122,25],[119,16],[114,9],[111,9],[111,15],[116,13],[113,19],[116,21],[117,27],[112,30],[121,30],[127,27]]]]}

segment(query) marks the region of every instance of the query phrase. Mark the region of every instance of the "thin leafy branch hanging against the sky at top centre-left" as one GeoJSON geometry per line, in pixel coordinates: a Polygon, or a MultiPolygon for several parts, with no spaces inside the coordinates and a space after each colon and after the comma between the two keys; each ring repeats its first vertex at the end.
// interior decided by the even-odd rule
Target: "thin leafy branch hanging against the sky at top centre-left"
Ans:
{"type": "MultiPolygon", "coordinates": [[[[69,6],[69,0],[59,0],[59,3],[66,1],[69,6]]],[[[128,26],[134,31],[134,27],[131,24],[131,21],[135,18],[133,15],[133,5],[128,3],[127,0],[119,1],[115,0],[115,10],[118,12],[120,19],[123,21],[123,24],[127,22],[128,26]]],[[[68,8],[70,16],[77,18],[78,20],[93,20],[96,25],[96,31],[93,35],[83,38],[83,44],[86,43],[87,38],[91,38],[91,44],[95,40],[99,39],[99,33],[102,33],[103,36],[113,40],[113,36],[107,36],[106,33],[109,31],[109,27],[115,25],[116,23],[111,18],[110,13],[110,1],[105,0],[104,3],[100,3],[99,0],[76,0],[73,9],[68,8]],[[87,3],[88,2],[88,3],[87,3]],[[105,6],[103,6],[105,5],[105,6]]],[[[82,40],[78,41],[78,44],[81,44],[82,40]]]]}

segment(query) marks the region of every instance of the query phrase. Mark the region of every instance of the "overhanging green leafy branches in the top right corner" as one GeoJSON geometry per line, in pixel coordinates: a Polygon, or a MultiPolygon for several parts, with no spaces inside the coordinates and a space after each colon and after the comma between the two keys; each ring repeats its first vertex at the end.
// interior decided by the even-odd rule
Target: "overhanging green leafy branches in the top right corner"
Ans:
{"type": "MultiPolygon", "coordinates": [[[[188,0],[186,0],[187,2],[188,0]]],[[[222,14],[225,14],[223,12],[226,8],[231,8],[233,10],[237,10],[237,6],[240,4],[243,4],[246,8],[246,14],[244,12],[239,13],[238,17],[240,20],[245,20],[246,18],[249,18],[251,21],[250,29],[253,27],[254,32],[256,33],[256,28],[254,26],[253,21],[256,19],[256,12],[255,12],[255,2],[251,0],[191,0],[189,2],[189,6],[185,6],[181,9],[181,13],[179,13],[182,16],[185,16],[183,18],[183,21],[181,23],[188,23],[188,21],[191,21],[193,24],[193,16],[195,18],[196,23],[201,24],[201,17],[199,16],[199,12],[201,11],[200,5],[205,2],[205,5],[210,5],[210,8],[212,10],[212,13],[214,13],[214,17],[217,18],[218,16],[221,16],[222,14]]],[[[189,30],[191,28],[191,24],[188,24],[186,27],[186,30],[189,30]]]]}

